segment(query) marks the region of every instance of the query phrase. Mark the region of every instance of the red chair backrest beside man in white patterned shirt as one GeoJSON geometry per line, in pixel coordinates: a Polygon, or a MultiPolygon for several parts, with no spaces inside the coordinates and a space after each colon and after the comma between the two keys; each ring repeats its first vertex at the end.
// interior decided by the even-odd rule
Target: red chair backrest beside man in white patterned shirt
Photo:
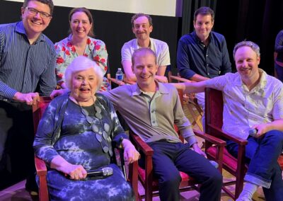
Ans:
{"type": "MultiPolygon", "coordinates": [[[[223,96],[214,88],[205,88],[205,129],[207,125],[221,128],[223,125],[223,96]]],[[[209,132],[210,133],[210,132],[209,132]]]]}

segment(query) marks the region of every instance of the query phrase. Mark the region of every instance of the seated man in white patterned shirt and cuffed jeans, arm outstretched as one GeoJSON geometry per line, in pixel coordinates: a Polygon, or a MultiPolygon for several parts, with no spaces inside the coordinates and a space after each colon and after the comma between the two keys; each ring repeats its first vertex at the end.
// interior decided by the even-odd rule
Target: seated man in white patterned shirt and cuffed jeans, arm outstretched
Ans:
{"type": "MultiPolygon", "coordinates": [[[[266,200],[282,200],[282,171],[277,159],[283,147],[283,84],[258,68],[260,47],[254,42],[239,42],[234,47],[233,57],[236,74],[177,85],[187,93],[202,92],[205,87],[222,91],[222,129],[248,140],[246,185],[237,200],[251,200],[259,186],[266,200]],[[257,131],[254,137],[249,136],[250,129],[257,131]]],[[[228,141],[227,149],[237,156],[238,144],[228,141]]]]}

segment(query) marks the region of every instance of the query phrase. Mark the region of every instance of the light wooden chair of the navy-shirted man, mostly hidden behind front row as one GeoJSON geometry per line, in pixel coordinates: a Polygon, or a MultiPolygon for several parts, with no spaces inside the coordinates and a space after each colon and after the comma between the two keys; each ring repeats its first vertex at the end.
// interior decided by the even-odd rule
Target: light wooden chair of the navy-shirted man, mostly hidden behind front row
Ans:
{"type": "MultiPolygon", "coordinates": [[[[180,76],[171,75],[169,76],[169,78],[170,78],[169,79],[170,82],[172,82],[173,80],[176,80],[178,82],[192,82],[189,79],[184,79],[180,76]]],[[[183,100],[185,101],[185,103],[187,103],[185,105],[187,106],[187,109],[192,115],[192,119],[193,119],[193,121],[191,122],[192,125],[197,125],[201,131],[204,131],[202,126],[203,111],[200,105],[197,103],[197,98],[195,98],[195,94],[194,93],[185,94],[183,100]]]]}

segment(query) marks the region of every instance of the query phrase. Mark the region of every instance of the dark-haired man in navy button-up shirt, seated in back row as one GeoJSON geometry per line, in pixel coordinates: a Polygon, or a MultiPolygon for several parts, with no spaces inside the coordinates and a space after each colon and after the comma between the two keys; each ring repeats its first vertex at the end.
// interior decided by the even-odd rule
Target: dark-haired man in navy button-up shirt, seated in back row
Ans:
{"type": "MultiPolygon", "coordinates": [[[[204,81],[231,72],[226,40],[212,31],[214,11],[200,7],[195,11],[192,33],[183,35],[178,42],[177,67],[180,76],[192,81],[204,81]]],[[[204,109],[204,93],[196,94],[204,109]]]]}

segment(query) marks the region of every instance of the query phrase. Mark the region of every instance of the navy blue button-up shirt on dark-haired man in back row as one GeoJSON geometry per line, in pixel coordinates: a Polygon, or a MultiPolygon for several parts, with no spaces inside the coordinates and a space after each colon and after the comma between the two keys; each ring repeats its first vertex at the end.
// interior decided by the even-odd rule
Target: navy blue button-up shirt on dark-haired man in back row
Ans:
{"type": "Polygon", "coordinates": [[[180,76],[190,79],[195,74],[214,78],[231,72],[231,62],[223,35],[209,34],[209,45],[197,37],[195,31],[183,35],[178,42],[177,67],[180,76]]]}

